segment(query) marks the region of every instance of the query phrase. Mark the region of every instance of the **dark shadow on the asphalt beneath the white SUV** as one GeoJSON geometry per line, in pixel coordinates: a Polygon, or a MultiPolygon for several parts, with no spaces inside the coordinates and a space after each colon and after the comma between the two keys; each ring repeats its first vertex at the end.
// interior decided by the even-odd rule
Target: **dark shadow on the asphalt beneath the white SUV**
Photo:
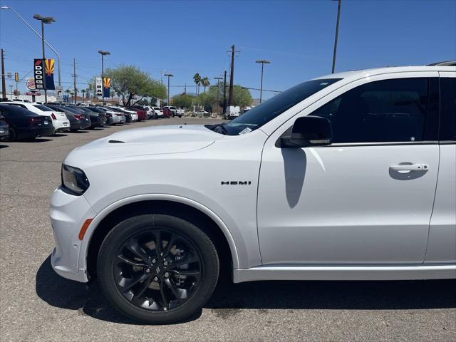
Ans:
{"type": "MultiPolygon", "coordinates": [[[[206,309],[223,316],[239,309],[403,310],[456,307],[456,280],[427,281],[219,281],[206,309]]],[[[114,323],[138,324],[113,309],[96,281],[82,284],[58,276],[51,256],[36,273],[36,294],[51,306],[78,310],[114,323]]],[[[189,319],[199,318],[201,312],[189,319]]]]}

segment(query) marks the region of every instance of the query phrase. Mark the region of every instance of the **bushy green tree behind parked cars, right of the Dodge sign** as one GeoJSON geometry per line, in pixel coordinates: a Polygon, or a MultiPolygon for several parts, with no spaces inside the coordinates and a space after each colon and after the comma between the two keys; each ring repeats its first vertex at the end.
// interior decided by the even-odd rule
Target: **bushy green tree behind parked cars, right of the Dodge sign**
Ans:
{"type": "Polygon", "coordinates": [[[166,87],[160,81],[152,79],[149,73],[136,66],[108,68],[105,70],[105,77],[111,79],[111,87],[120,94],[124,105],[135,105],[148,96],[165,98],[167,95],[166,87]]]}

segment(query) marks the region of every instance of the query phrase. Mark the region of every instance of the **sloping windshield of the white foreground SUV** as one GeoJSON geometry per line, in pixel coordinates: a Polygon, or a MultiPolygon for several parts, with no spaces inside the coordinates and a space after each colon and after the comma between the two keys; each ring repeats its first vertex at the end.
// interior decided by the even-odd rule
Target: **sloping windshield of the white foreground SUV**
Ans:
{"type": "Polygon", "coordinates": [[[284,113],[285,110],[290,109],[302,100],[309,98],[309,96],[314,95],[339,80],[341,78],[321,78],[300,83],[264,101],[261,105],[248,110],[247,113],[240,115],[227,124],[212,125],[207,126],[207,128],[226,135],[239,135],[252,132],[252,130],[260,128],[265,123],[284,113]]]}

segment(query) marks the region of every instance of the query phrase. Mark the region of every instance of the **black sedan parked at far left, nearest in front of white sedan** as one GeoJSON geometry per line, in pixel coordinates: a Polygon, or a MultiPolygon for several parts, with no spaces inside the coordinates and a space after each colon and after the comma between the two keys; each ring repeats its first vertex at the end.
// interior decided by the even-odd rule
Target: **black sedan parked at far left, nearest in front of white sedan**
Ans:
{"type": "Polygon", "coordinates": [[[0,103],[0,114],[9,125],[9,140],[46,137],[54,134],[52,120],[16,105],[0,103]]]}

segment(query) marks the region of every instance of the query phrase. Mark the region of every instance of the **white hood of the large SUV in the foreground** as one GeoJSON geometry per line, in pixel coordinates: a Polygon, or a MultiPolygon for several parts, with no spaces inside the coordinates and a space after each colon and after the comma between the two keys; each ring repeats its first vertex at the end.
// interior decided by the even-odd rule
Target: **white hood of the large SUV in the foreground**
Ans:
{"type": "Polygon", "coordinates": [[[123,130],[94,140],[73,150],[64,161],[78,167],[97,160],[183,153],[201,150],[225,135],[212,132],[204,125],[168,125],[123,130]]]}

